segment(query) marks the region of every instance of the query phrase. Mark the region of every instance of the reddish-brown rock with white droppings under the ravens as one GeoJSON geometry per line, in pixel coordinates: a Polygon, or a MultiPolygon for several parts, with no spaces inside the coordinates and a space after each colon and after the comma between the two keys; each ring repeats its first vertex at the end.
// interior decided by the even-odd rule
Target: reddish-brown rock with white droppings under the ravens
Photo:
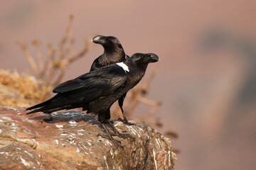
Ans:
{"type": "Polygon", "coordinates": [[[26,115],[25,108],[0,107],[0,169],[174,169],[171,140],[145,123],[114,126],[135,141],[97,134],[93,115],[60,112],[26,115]]]}

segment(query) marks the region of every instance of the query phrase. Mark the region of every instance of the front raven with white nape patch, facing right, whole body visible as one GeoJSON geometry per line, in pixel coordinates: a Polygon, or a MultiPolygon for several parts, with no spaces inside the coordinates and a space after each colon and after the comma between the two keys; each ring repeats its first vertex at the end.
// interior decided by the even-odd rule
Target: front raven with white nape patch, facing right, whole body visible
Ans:
{"type": "Polygon", "coordinates": [[[40,103],[26,110],[35,109],[29,113],[52,113],[63,109],[82,107],[83,111],[98,116],[102,128],[107,137],[120,146],[119,141],[114,140],[106,125],[114,131],[114,135],[122,138],[129,137],[122,134],[110,123],[110,107],[124,94],[139,83],[146,72],[149,62],[157,62],[159,57],[153,53],[136,53],[125,62],[110,64],[95,71],[82,74],[76,79],[65,81],[53,89],[58,93],[48,101],[40,103]]]}

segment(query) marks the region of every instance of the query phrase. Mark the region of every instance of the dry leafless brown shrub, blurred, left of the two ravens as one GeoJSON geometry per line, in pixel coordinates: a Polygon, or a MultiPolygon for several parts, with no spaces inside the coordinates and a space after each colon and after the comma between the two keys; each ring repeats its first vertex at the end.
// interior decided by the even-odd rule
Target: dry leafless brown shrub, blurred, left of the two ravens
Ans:
{"type": "Polygon", "coordinates": [[[53,86],[59,84],[65,75],[68,65],[84,57],[89,50],[92,50],[93,46],[90,43],[92,38],[87,38],[82,50],[78,53],[75,52],[73,49],[75,38],[73,37],[72,25],[73,15],[70,15],[65,35],[60,40],[58,49],[53,49],[53,46],[49,43],[46,57],[43,57],[40,40],[33,40],[32,42],[32,45],[36,48],[36,57],[31,55],[25,42],[18,42],[36,79],[43,80],[46,84],[53,86]]]}

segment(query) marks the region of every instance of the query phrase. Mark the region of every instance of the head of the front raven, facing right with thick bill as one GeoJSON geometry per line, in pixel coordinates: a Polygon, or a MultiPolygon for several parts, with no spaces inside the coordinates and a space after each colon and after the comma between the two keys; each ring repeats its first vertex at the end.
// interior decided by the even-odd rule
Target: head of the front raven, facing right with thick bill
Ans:
{"type": "Polygon", "coordinates": [[[149,62],[157,62],[159,60],[159,57],[155,55],[154,53],[135,53],[130,57],[130,60],[137,64],[149,64],[149,62]]]}

